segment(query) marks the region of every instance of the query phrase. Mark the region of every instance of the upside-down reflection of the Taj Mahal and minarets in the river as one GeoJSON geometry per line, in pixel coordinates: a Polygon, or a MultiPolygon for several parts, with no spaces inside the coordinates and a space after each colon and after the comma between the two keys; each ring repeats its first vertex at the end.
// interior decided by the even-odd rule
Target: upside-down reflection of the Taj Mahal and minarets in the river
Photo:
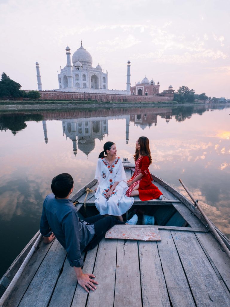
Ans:
{"type": "MultiPolygon", "coordinates": [[[[58,119],[62,120],[63,135],[66,139],[69,138],[73,142],[73,152],[76,156],[77,150],[81,150],[88,157],[89,153],[95,148],[95,139],[103,140],[105,134],[108,135],[108,120],[125,119],[125,140],[129,143],[129,129],[130,123],[139,126],[142,131],[147,127],[157,124],[157,115],[165,118],[168,122],[172,118],[172,111],[164,113],[150,113],[150,114],[131,114],[131,115],[117,115],[107,117],[91,117],[91,118],[77,118],[77,119],[58,119]]],[[[46,144],[48,143],[46,120],[43,120],[43,132],[46,144]]]]}

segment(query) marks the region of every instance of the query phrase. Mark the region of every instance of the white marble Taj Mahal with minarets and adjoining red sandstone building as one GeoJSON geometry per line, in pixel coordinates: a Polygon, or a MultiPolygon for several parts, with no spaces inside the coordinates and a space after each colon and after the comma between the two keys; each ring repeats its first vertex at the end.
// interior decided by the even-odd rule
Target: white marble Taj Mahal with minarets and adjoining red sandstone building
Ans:
{"type": "MultiPolygon", "coordinates": [[[[92,67],[92,56],[81,46],[73,53],[71,61],[70,47],[66,47],[66,66],[60,67],[58,72],[58,88],[50,91],[55,92],[75,92],[89,94],[117,94],[117,95],[145,95],[145,96],[164,96],[168,100],[173,100],[174,90],[172,85],[168,90],[160,93],[160,82],[153,79],[145,78],[138,81],[135,86],[131,87],[130,83],[130,60],[127,61],[126,90],[109,90],[108,89],[108,72],[104,72],[101,65],[92,67]]],[[[39,63],[36,62],[38,90],[42,91],[42,82],[40,75],[39,63]]]]}

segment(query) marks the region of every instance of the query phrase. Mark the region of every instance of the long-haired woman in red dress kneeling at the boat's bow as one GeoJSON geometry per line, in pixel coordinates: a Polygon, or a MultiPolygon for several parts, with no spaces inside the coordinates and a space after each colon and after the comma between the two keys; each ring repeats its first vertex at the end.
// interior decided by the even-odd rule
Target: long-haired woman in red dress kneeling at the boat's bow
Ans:
{"type": "Polygon", "coordinates": [[[128,190],[126,196],[139,195],[140,200],[162,199],[162,192],[152,183],[149,173],[149,165],[152,163],[149,149],[149,139],[141,136],[136,142],[136,152],[134,154],[135,172],[127,182],[128,190]]]}

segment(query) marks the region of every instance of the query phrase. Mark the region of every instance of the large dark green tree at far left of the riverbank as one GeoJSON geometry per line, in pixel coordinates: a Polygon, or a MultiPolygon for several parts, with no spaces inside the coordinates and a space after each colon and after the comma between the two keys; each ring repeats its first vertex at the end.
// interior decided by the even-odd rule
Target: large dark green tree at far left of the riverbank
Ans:
{"type": "Polygon", "coordinates": [[[0,97],[13,97],[18,98],[22,97],[21,85],[10,79],[9,76],[2,73],[2,78],[0,81],[0,97]]]}

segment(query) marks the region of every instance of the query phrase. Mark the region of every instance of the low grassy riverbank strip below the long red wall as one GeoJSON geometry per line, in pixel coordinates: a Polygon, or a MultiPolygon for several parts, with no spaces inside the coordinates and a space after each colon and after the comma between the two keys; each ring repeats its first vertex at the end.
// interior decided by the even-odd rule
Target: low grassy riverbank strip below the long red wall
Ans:
{"type": "MultiPolygon", "coordinates": [[[[97,109],[97,108],[123,108],[123,107],[156,107],[156,106],[191,106],[205,105],[201,103],[178,103],[177,101],[167,102],[98,102],[98,101],[74,101],[74,100],[30,100],[30,101],[6,101],[0,100],[0,111],[42,111],[60,109],[97,109]]],[[[210,104],[206,104],[209,106],[210,104]]],[[[215,103],[214,105],[217,105],[215,103]]],[[[222,104],[219,104],[222,105],[222,104]]],[[[230,105],[225,103],[224,105],[230,105]]]]}

